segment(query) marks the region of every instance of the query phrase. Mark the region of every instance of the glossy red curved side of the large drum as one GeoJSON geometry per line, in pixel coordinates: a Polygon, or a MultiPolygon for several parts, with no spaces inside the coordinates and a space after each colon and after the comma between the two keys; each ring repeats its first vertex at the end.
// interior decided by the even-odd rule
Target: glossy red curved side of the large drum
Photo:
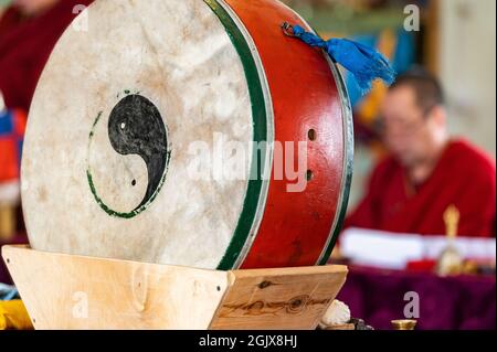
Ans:
{"type": "Polygon", "coordinates": [[[261,56],[273,100],[274,139],[308,141],[305,172],[310,178],[304,192],[288,192],[292,181],[273,174],[264,216],[242,267],[324,264],[338,236],[351,179],[346,88],[322,52],[282,35],[285,22],[309,29],[290,9],[272,0],[226,3],[261,56]]]}

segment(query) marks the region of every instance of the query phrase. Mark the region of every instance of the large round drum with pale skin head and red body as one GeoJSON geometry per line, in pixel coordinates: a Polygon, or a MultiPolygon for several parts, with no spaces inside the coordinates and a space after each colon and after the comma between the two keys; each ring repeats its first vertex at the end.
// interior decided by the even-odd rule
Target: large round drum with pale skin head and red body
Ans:
{"type": "Polygon", "coordinates": [[[350,106],[275,0],[97,0],[59,41],[22,161],[40,250],[209,269],[325,263],[350,106]],[[85,26],[87,24],[87,26],[85,26]]]}

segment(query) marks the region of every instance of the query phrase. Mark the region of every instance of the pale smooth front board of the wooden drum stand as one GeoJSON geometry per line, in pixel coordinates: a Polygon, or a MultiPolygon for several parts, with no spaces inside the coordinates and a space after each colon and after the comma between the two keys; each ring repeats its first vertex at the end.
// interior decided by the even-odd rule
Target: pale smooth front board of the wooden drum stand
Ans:
{"type": "Polygon", "coordinates": [[[2,256],[35,329],[207,329],[228,286],[222,271],[15,246],[2,256]]]}

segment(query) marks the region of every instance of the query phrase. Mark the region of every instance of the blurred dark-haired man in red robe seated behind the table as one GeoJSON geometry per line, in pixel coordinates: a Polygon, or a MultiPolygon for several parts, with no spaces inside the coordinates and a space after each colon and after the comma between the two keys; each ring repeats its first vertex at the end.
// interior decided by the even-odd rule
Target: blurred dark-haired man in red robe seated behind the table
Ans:
{"type": "Polygon", "coordinates": [[[417,70],[398,78],[381,107],[390,151],[373,170],[347,227],[444,235],[444,213],[459,212],[458,235],[495,236],[495,160],[448,136],[440,83],[417,70]]]}

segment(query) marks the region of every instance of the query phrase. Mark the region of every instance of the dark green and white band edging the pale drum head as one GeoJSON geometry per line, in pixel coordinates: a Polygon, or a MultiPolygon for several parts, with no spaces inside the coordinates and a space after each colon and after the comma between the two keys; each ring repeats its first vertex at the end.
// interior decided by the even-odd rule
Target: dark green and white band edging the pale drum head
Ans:
{"type": "MultiPolygon", "coordinates": [[[[228,270],[240,268],[243,264],[257,237],[258,227],[264,215],[271,183],[271,170],[273,167],[274,111],[262,60],[248,30],[224,0],[203,0],[203,2],[212,10],[224,26],[243,64],[252,103],[252,117],[254,121],[253,140],[255,142],[266,142],[266,152],[264,160],[261,162],[261,166],[264,167],[262,170],[257,170],[257,175],[261,180],[248,180],[243,210],[239,216],[236,228],[218,265],[219,270],[228,270]],[[261,102],[261,97],[263,102],[261,102]],[[255,102],[255,98],[258,100],[255,102]],[[256,110],[257,108],[260,111],[256,110]],[[264,117],[265,121],[257,121],[258,114],[262,114],[261,116],[264,117]],[[255,134],[257,128],[265,130],[263,138],[256,139],[255,134]],[[258,191],[255,191],[257,193],[256,199],[247,200],[254,195],[253,190],[257,188],[258,191]],[[252,214],[244,214],[244,212],[252,214]]],[[[258,169],[258,158],[252,160],[251,174],[253,173],[254,163],[255,168],[258,169]]]]}

